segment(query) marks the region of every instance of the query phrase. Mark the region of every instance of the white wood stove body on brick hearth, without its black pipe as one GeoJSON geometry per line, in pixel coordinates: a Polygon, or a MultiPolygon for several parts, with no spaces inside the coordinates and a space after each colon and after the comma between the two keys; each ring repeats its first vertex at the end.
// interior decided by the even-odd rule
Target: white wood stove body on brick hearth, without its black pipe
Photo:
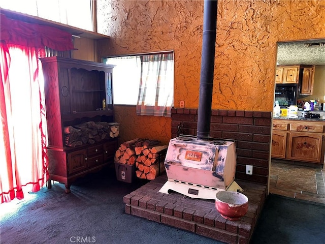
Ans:
{"type": "Polygon", "coordinates": [[[234,181],[236,148],[231,140],[180,135],[169,142],[165,168],[168,181],[161,193],[172,190],[191,198],[215,199],[219,191],[243,191],[234,181]]]}

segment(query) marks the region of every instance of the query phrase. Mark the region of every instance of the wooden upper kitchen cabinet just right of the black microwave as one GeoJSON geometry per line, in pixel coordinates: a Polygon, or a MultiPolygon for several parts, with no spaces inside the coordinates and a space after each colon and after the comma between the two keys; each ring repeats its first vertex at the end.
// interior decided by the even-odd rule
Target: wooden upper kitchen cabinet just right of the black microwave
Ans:
{"type": "Polygon", "coordinates": [[[301,66],[300,94],[313,95],[315,66],[301,66]]]}

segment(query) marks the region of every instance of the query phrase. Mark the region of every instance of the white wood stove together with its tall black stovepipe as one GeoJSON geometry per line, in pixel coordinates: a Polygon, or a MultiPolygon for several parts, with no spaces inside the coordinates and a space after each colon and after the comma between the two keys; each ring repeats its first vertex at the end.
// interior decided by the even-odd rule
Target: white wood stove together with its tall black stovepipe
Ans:
{"type": "Polygon", "coordinates": [[[193,198],[215,199],[218,191],[242,191],[234,181],[235,142],[210,138],[216,42],[217,1],[204,2],[203,42],[197,137],[170,140],[165,159],[168,181],[159,190],[193,198]]]}

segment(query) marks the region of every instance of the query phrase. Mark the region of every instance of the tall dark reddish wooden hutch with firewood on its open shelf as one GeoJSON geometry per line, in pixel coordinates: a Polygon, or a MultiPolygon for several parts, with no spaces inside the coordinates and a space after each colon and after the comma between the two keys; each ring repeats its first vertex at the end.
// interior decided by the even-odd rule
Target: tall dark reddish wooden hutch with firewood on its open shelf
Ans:
{"type": "Polygon", "coordinates": [[[99,137],[71,146],[66,143],[64,131],[89,121],[114,122],[114,66],[61,57],[41,58],[41,62],[48,128],[48,188],[55,180],[62,182],[69,193],[74,180],[114,161],[117,138],[99,137]]]}

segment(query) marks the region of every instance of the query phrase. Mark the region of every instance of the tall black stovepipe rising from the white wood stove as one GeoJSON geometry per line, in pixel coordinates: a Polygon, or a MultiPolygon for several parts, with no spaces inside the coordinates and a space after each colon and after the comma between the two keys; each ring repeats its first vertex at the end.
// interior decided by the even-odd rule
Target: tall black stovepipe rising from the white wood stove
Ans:
{"type": "Polygon", "coordinates": [[[197,128],[197,138],[199,140],[207,140],[210,137],[214,53],[217,27],[217,4],[218,1],[204,1],[200,96],[197,128]]]}

